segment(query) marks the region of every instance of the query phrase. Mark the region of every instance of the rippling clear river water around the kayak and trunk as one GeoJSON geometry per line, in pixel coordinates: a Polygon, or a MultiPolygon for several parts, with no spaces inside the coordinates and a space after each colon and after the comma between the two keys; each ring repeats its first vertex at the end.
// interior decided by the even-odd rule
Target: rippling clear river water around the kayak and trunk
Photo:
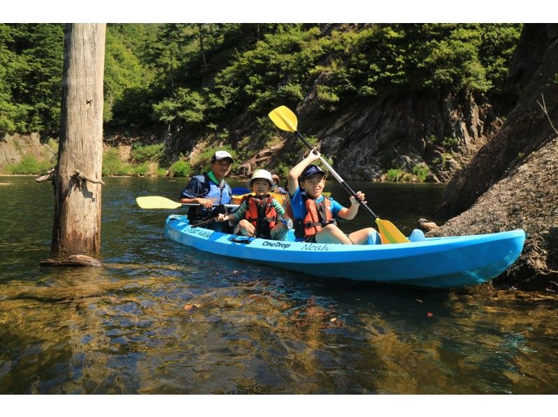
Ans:
{"type": "MultiPolygon", "coordinates": [[[[41,268],[52,188],[0,177],[0,393],[557,393],[556,296],[320,280],[169,241],[176,179],[108,178],[103,268],[41,268]]],[[[234,183],[233,185],[241,185],[234,183]]],[[[352,183],[403,232],[437,185],[352,183]]],[[[347,197],[329,183],[342,204],[347,197]]],[[[343,229],[370,225],[363,213],[343,229]]]]}

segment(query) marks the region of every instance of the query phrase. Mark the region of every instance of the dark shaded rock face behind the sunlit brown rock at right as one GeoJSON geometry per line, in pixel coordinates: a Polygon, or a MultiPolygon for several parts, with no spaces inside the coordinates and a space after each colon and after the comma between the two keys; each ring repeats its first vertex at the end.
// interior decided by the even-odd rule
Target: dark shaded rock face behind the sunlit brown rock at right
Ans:
{"type": "MultiPolygon", "coordinates": [[[[518,88],[525,83],[520,74],[531,73],[531,80],[502,129],[448,183],[442,196],[443,204],[439,208],[440,215],[446,218],[469,208],[492,184],[504,178],[510,169],[521,165],[529,153],[540,149],[555,135],[548,117],[541,111],[537,101],[541,102],[544,96],[550,119],[558,120],[558,84],[552,82],[558,73],[558,24],[540,24],[535,27],[526,25],[520,45],[527,48],[531,42],[525,40],[525,33],[535,39],[550,33],[548,36],[555,36],[555,39],[542,59],[538,57],[538,49],[531,49],[533,61],[536,63],[540,59],[534,72],[529,70],[533,63],[526,62],[526,52],[518,50],[515,53],[511,75],[517,79],[518,88]],[[553,28],[556,30],[551,31],[553,28]],[[538,33],[534,29],[538,29],[538,33]]],[[[548,40],[546,43],[548,44],[548,40]]]]}

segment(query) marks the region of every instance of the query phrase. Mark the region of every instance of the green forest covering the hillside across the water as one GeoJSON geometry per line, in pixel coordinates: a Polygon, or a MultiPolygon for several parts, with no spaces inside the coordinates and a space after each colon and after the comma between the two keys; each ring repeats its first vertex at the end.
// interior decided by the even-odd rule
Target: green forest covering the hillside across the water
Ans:
{"type": "MultiPolygon", "coordinates": [[[[108,24],[105,135],[170,132],[223,139],[231,126],[250,126],[246,135],[271,143],[278,132],[266,114],[278,105],[296,108],[324,74],[315,98],[323,114],[360,98],[429,91],[474,93],[498,103],[521,29],[520,24],[352,24],[335,30],[324,24],[108,24]]],[[[0,135],[57,137],[63,31],[63,24],[0,24],[0,135]]],[[[229,143],[239,160],[251,156],[248,148],[229,143]]],[[[211,149],[206,154],[200,164],[211,149]]],[[[132,156],[135,168],[107,151],[103,173],[142,174],[146,167],[138,167],[149,161],[158,162],[159,174],[171,168],[182,176],[195,168],[181,154],[169,153],[163,139],[135,142],[132,156]]]]}

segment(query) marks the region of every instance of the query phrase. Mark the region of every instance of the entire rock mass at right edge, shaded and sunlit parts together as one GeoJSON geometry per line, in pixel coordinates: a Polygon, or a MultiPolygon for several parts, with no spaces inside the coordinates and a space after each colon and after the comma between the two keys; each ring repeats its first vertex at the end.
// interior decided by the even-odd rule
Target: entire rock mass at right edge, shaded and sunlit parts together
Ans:
{"type": "Polygon", "coordinates": [[[508,82],[523,93],[502,129],[448,183],[442,213],[459,215],[430,232],[525,229],[522,256],[496,282],[549,291],[558,291],[557,74],[558,24],[526,25],[508,82]]]}

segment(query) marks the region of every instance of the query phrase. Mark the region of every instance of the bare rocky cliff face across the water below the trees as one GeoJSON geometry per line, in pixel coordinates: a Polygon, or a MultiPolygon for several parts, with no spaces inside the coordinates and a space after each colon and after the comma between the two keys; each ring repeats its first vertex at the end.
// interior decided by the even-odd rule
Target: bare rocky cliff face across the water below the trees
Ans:
{"type": "Polygon", "coordinates": [[[326,78],[318,77],[297,107],[299,128],[319,137],[322,153],[334,156],[335,169],[349,180],[375,181],[386,167],[411,171],[426,162],[432,174],[448,181],[502,126],[483,98],[437,95],[359,100],[317,121],[315,89],[326,84],[326,78]],[[453,155],[432,137],[451,138],[453,155]]]}

